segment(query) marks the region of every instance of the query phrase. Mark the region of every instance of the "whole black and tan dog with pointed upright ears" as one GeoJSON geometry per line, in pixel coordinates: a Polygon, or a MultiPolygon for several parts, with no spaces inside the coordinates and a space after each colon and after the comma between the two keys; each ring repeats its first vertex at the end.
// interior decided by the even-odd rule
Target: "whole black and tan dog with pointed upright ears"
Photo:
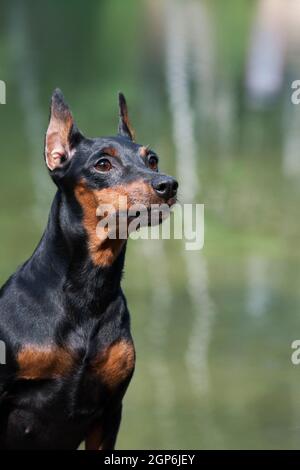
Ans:
{"type": "Polygon", "coordinates": [[[98,237],[101,204],[175,202],[177,182],[134,142],[119,95],[118,135],[85,138],[60,90],[45,160],[57,185],[32,257],[0,291],[0,448],[113,449],[135,351],[120,283],[126,240],[98,237]]]}

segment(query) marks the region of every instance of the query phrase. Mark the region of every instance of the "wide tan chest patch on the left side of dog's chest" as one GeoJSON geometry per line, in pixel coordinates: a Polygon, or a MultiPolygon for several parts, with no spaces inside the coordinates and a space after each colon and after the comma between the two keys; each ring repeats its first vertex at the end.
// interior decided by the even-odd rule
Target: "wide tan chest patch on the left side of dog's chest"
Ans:
{"type": "Polygon", "coordinates": [[[18,353],[18,377],[22,379],[53,379],[68,374],[74,357],[66,349],[51,346],[24,346],[18,353]]]}

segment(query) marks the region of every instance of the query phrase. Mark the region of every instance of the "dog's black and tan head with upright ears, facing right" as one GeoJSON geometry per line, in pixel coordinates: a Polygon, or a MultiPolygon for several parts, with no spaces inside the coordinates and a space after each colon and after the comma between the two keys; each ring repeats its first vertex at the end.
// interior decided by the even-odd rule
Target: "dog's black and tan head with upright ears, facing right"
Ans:
{"type": "Polygon", "coordinates": [[[45,161],[61,191],[74,195],[81,205],[90,232],[95,230],[96,211],[101,206],[112,206],[119,214],[143,206],[150,213],[153,205],[172,206],[176,202],[177,181],[160,173],[158,156],[149,146],[135,142],[121,93],[117,136],[86,138],[77,128],[61,91],[55,90],[45,161]]]}

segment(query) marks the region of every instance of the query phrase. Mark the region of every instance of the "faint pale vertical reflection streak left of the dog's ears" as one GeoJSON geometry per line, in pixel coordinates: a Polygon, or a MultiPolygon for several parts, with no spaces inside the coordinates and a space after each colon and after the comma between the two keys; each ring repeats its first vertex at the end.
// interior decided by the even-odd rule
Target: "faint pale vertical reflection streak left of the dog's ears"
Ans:
{"type": "Polygon", "coordinates": [[[49,210],[50,184],[43,162],[43,114],[38,104],[38,83],[34,58],[31,53],[25,3],[11,3],[9,41],[13,67],[17,79],[21,109],[24,115],[25,134],[29,146],[24,157],[29,158],[34,191],[32,217],[38,227],[44,226],[49,210]]]}

